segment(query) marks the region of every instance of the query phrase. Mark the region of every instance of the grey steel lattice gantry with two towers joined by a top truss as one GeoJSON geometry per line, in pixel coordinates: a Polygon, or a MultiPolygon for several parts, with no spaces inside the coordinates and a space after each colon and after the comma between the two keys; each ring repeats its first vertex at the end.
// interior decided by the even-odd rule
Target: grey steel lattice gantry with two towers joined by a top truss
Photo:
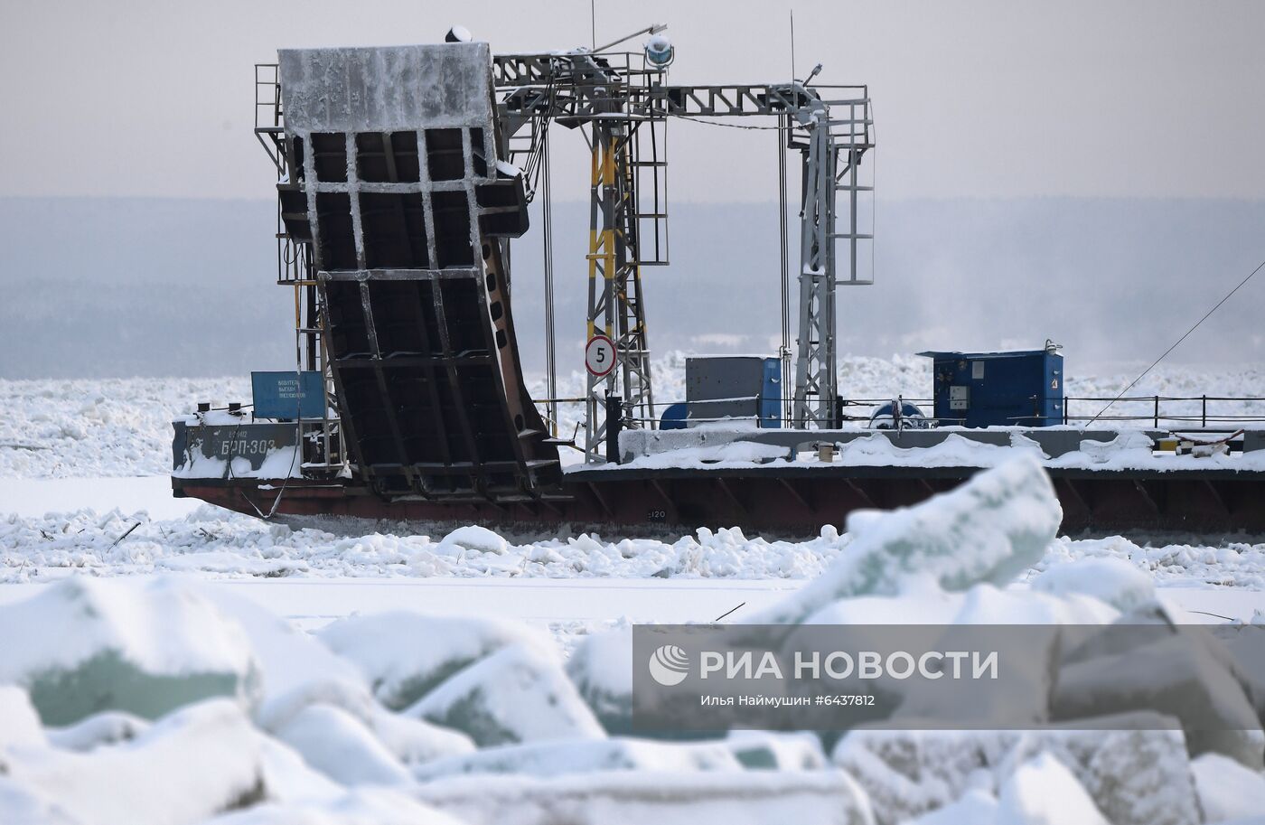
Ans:
{"type": "MultiPolygon", "coordinates": [[[[621,397],[621,424],[654,425],[640,267],[660,261],[639,259],[643,215],[638,211],[634,167],[638,132],[653,130],[673,116],[774,115],[787,127],[787,147],[801,152],[799,311],[788,425],[834,426],[839,412],[836,287],[872,282],[861,275],[859,254],[860,247],[873,239],[873,232],[861,232],[860,226],[863,201],[873,192],[859,175],[863,157],[874,148],[868,89],[798,81],[668,86],[663,71],[639,57],[586,51],[505,54],[495,56],[492,66],[505,134],[512,138],[533,124],[528,153],[535,152],[535,130],[548,128],[549,121],[587,127],[591,142],[587,332],[589,337],[603,332],[616,343],[616,366],[608,376],[588,380],[587,459],[602,458],[608,426],[601,412],[606,396],[621,397]],[[834,96],[824,97],[822,92],[834,96]],[[839,192],[845,192],[842,214],[839,192]],[[844,232],[837,230],[840,219],[844,232]],[[840,240],[848,249],[842,272],[840,240]]],[[[658,175],[665,162],[654,157],[650,163],[658,195],[658,175]]],[[[651,214],[657,220],[665,218],[658,202],[651,214]]]]}

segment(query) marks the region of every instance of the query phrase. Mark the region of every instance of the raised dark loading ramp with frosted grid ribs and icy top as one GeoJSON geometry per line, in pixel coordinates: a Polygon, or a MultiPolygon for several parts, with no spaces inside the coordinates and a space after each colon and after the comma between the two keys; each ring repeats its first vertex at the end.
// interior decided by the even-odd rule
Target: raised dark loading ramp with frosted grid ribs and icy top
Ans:
{"type": "Polygon", "coordinates": [[[310,237],[357,472],[386,499],[558,495],[502,262],[526,230],[497,164],[486,43],[280,53],[292,237],[310,237]]]}

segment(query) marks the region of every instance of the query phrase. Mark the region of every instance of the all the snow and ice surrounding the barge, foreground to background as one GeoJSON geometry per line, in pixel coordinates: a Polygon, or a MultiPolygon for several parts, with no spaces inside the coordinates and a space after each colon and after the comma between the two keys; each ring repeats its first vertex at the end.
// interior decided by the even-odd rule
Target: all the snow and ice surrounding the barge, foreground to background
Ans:
{"type": "MultiPolygon", "coordinates": [[[[683,358],[655,366],[657,395],[683,397],[683,358]]],[[[1222,391],[1217,382],[1243,392],[1262,375],[1161,369],[1136,392],[1222,391]]],[[[559,391],[579,386],[577,373],[559,391]]],[[[921,397],[930,362],[846,358],[842,386],[921,397]]],[[[1120,386],[1074,378],[1069,392],[1120,386]]],[[[287,526],[171,499],[170,421],[199,400],[247,401],[247,382],[0,382],[3,822],[1184,825],[1200,806],[1209,822],[1265,815],[1259,729],[1208,736],[1189,719],[1216,711],[1251,728],[1265,706],[1265,677],[1226,673],[1213,654],[1165,655],[1179,667],[1161,671],[1136,654],[1087,662],[1087,645],[1058,663],[1054,705],[1077,716],[1058,730],[851,731],[830,760],[812,734],[624,735],[632,619],[1071,633],[1155,602],[1182,621],[1221,621],[1183,609],[1238,620],[1265,609],[1257,539],[1055,535],[1035,449],[1007,463],[1013,452],[954,439],[922,459],[1003,466],[960,496],[855,514],[842,535],[826,528],[796,542],[716,525],[641,539],[584,525],[555,535],[287,526]],[[102,652],[116,662],[89,667],[102,652]],[[1107,676],[1077,669],[1087,664],[1109,666],[1107,676]],[[1207,696],[1174,702],[1157,690],[1209,668],[1225,678],[1207,696]],[[33,677],[49,672],[82,679],[78,691],[63,679],[49,693],[33,677]],[[202,691],[209,673],[224,678],[202,691]],[[1079,719],[1140,702],[1187,730],[1154,710],[1079,719]]],[[[1236,412],[1265,414],[1243,406],[1236,412]]],[[[578,414],[564,407],[563,429],[578,414]]],[[[856,461],[884,449],[853,445],[856,461]]],[[[1126,438],[1077,461],[1152,461],[1144,452],[1126,438]]],[[[1041,697],[1044,687],[1030,698],[1041,697]]]]}

